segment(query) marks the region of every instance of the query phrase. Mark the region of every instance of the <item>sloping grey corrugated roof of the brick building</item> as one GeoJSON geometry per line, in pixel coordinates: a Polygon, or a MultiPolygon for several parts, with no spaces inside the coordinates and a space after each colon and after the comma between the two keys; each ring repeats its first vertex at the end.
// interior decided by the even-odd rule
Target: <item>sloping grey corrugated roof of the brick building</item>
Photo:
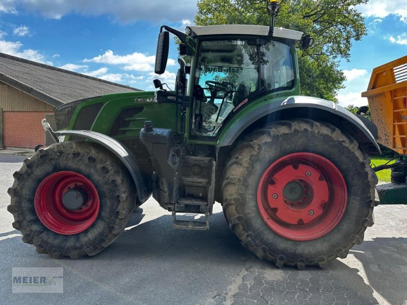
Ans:
{"type": "Polygon", "coordinates": [[[0,53],[0,81],[55,107],[105,94],[139,91],[4,53],[0,53]]]}

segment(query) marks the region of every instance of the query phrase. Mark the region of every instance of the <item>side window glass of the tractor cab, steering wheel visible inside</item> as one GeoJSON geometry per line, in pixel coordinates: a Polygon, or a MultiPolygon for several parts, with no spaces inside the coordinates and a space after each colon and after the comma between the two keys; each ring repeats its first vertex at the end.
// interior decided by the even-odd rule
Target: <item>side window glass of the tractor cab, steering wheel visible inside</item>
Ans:
{"type": "Polygon", "coordinates": [[[192,135],[215,137],[223,121],[250,102],[255,93],[292,88],[290,47],[256,39],[202,41],[197,58],[192,135]]]}

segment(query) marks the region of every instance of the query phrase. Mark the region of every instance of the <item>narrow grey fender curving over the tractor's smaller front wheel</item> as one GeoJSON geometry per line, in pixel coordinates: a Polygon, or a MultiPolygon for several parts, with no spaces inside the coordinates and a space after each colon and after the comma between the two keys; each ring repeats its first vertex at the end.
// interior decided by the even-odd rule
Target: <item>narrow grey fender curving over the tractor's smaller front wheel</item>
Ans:
{"type": "Polygon", "coordinates": [[[83,130],[64,130],[54,132],[56,136],[77,136],[84,140],[90,139],[103,147],[110,150],[128,169],[137,190],[137,199],[141,203],[145,202],[151,195],[151,190],[148,189],[146,178],[140,171],[140,164],[132,151],[119,141],[94,131],[83,130]]]}

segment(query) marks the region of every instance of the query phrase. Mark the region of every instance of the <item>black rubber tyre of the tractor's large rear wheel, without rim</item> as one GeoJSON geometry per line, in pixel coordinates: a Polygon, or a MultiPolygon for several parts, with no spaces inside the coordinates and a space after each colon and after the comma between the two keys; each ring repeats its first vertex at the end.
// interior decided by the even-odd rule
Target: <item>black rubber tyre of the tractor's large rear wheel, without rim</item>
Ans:
{"type": "Polygon", "coordinates": [[[258,258],[278,267],[325,267],[330,260],[345,258],[355,244],[363,242],[366,227],[373,225],[376,184],[369,156],[362,153],[354,138],[310,119],[277,121],[252,132],[232,151],[224,170],[223,209],[232,232],[258,258]],[[260,178],[273,162],[304,152],[322,156],[338,168],[347,201],[343,200],[343,215],[331,231],[299,241],[282,237],[266,224],[257,205],[257,192],[260,178]]]}

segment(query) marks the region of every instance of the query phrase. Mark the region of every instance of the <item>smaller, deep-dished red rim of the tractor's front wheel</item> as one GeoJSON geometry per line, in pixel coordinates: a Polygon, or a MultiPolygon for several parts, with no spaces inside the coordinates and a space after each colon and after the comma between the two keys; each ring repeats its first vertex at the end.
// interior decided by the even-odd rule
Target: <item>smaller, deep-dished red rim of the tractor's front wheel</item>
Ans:
{"type": "Polygon", "coordinates": [[[39,185],[34,199],[38,218],[55,233],[73,235],[88,229],[99,214],[99,194],[85,176],[72,171],[60,171],[46,177],[39,185]],[[64,205],[64,195],[75,192],[83,203],[70,209],[64,205]]]}

